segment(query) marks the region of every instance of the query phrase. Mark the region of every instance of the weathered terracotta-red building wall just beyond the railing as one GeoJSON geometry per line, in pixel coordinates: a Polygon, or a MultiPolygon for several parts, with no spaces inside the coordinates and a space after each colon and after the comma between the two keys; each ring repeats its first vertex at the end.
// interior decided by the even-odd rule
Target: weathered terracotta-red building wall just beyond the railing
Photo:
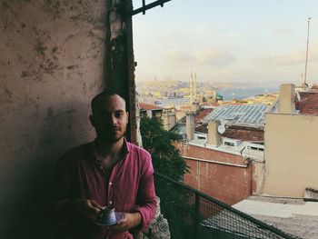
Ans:
{"type": "Polygon", "coordinates": [[[228,154],[189,144],[178,144],[181,154],[186,157],[190,172],[184,175],[184,183],[208,194],[226,204],[236,204],[252,194],[253,172],[252,164],[245,165],[240,155],[228,154]],[[246,167],[226,165],[238,164],[246,167]]]}

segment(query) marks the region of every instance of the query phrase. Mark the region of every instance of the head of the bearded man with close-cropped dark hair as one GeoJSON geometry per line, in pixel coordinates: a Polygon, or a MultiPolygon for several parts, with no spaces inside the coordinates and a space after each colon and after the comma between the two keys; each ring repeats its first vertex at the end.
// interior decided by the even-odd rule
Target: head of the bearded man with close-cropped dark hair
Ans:
{"type": "Polygon", "coordinates": [[[90,119],[97,137],[109,143],[119,141],[128,123],[124,100],[118,95],[101,96],[95,103],[90,119]]]}

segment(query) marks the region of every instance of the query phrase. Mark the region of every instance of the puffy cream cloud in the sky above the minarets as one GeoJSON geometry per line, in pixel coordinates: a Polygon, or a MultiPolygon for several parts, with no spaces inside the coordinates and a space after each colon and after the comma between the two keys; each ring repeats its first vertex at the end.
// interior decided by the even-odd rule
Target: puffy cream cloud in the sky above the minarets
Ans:
{"type": "Polygon", "coordinates": [[[192,65],[226,67],[235,62],[235,57],[231,53],[213,48],[194,49],[189,52],[171,49],[168,51],[167,58],[168,61],[177,65],[191,63],[192,65]]]}

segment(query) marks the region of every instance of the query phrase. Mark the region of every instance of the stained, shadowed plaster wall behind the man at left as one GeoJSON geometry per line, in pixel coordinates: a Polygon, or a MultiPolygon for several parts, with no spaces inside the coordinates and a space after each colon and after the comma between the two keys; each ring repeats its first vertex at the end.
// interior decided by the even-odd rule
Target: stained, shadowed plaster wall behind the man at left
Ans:
{"type": "Polygon", "coordinates": [[[50,238],[55,162],[94,138],[104,0],[0,1],[0,237],[50,238]]]}

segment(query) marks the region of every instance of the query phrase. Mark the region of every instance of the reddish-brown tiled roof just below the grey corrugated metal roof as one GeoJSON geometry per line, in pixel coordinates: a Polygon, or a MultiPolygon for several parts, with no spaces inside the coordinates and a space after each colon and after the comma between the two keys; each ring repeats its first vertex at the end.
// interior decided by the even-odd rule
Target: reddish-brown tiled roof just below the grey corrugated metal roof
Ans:
{"type": "MultiPolygon", "coordinates": [[[[207,134],[207,124],[195,127],[195,132],[207,134]]],[[[226,126],[224,134],[221,135],[226,138],[238,139],[241,141],[263,142],[263,129],[253,127],[229,125],[226,126]]]]}

